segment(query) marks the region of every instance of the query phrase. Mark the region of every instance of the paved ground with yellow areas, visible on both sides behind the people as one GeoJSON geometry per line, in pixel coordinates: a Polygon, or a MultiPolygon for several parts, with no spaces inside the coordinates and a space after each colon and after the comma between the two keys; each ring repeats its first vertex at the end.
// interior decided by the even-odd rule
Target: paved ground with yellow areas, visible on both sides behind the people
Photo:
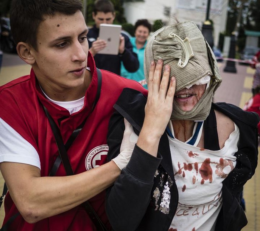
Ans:
{"type": "MultiPolygon", "coordinates": [[[[251,97],[251,86],[254,70],[249,66],[236,64],[237,73],[223,72],[225,62],[219,63],[222,76],[222,84],[214,96],[215,102],[227,102],[243,107],[251,97]]],[[[3,55],[3,63],[0,72],[0,86],[21,75],[30,72],[30,65],[24,63],[17,55],[3,55]]],[[[260,150],[259,150],[260,151],[260,150]]],[[[260,169],[244,187],[244,198],[246,202],[247,226],[242,231],[260,230],[260,169]]],[[[0,174],[0,190],[2,190],[3,179],[0,174]]],[[[0,225],[4,217],[4,206],[0,209],[0,225]]],[[[207,230],[205,230],[207,231],[207,230]]]]}

